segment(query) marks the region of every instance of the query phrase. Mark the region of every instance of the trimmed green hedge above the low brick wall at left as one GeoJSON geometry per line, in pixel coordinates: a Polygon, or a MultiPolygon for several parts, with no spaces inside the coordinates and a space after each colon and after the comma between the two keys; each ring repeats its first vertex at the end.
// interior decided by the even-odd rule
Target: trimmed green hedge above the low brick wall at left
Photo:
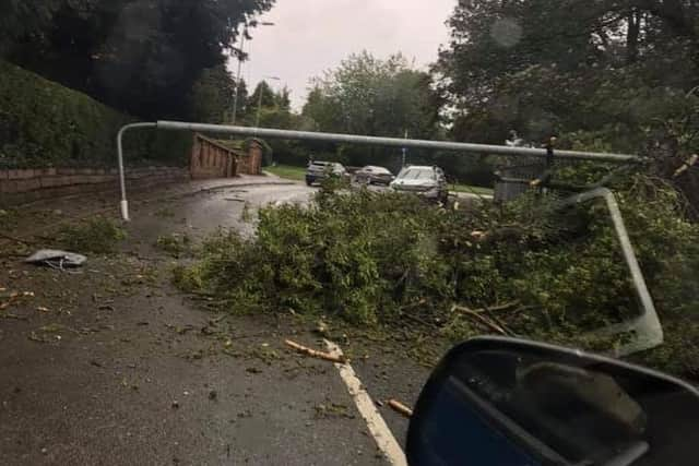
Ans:
{"type": "MultiPolygon", "coordinates": [[[[0,60],[0,169],[111,167],[116,135],[133,118],[0,60]]],[[[129,165],[185,165],[191,136],[127,135],[129,165]]]]}

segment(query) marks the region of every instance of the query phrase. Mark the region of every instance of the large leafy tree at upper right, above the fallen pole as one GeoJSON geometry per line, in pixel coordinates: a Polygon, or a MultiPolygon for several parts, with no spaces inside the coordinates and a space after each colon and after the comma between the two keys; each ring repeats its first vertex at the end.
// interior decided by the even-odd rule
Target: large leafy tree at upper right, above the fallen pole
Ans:
{"type": "Polygon", "coordinates": [[[460,1],[449,25],[434,72],[457,139],[614,130],[631,150],[668,108],[644,103],[699,84],[696,0],[460,1]]]}

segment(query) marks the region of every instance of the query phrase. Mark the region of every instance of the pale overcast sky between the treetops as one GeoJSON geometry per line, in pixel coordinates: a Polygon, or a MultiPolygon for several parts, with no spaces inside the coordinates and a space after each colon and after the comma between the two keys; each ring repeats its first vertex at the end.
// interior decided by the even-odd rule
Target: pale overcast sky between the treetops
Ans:
{"type": "MultiPolygon", "coordinates": [[[[377,57],[401,51],[424,68],[437,58],[449,32],[445,22],[457,0],[276,0],[246,44],[250,60],[242,76],[252,88],[264,76],[279,76],[300,110],[308,82],[335,68],[352,52],[377,57]]],[[[236,72],[236,62],[229,63],[236,72]]]]}

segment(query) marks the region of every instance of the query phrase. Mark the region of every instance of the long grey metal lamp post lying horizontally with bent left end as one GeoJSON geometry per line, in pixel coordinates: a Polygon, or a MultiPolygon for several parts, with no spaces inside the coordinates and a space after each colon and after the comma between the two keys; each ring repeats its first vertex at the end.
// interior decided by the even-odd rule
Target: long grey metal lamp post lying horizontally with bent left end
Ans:
{"type": "MultiPolygon", "coordinates": [[[[488,145],[488,144],[471,144],[463,142],[451,141],[426,141],[426,140],[410,140],[400,138],[377,138],[365,136],[357,134],[336,134],[336,133],[321,133],[309,131],[291,131],[291,130],[275,130],[268,128],[251,128],[251,127],[232,127],[225,124],[205,124],[205,123],[188,123],[181,121],[157,121],[151,123],[131,123],[119,130],[117,135],[117,151],[119,158],[119,184],[121,188],[121,217],[125,220],[129,220],[129,202],[127,200],[126,189],[126,175],[123,168],[123,134],[128,130],[142,128],[155,128],[158,130],[168,131],[194,131],[203,133],[220,133],[220,134],[233,134],[239,136],[254,136],[254,138],[269,138],[269,139],[286,139],[295,141],[318,141],[330,143],[345,143],[345,144],[362,144],[362,145],[375,145],[383,147],[399,147],[399,148],[424,148],[434,151],[453,151],[465,154],[489,154],[489,155],[502,155],[502,156],[520,156],[520,157],[542,157],[545,158],[548,155],[545,148],[532,148],[532,147],[510,147],[503,145],[488,145]]],[[[556,158],[559,159],[572,159],[572,160],[596,160],[596,162],[611,162],[611,163],[632,163],[640,162],[641,157],[637,155],[628,154],[606,154],[595,152],[580,152],[580,151],[555,151],[556,158]]]]}

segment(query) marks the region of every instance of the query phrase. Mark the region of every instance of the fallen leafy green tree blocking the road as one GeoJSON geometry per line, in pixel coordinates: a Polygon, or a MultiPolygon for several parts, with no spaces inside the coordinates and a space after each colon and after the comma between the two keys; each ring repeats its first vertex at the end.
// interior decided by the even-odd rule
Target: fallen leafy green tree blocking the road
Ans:
{"type": "MultiPolygon", "coordinates": [[[[616,186],[665,327],[644,362],[699,378],[699,226],[672,187],[636,174],[616,186]]],[[[605,350],[590,331],[637,314],[601,204],[560,210],[533,192],[505,206],[443,210],[411,196],[321,192],[310,206],[259,212],[258,234],[221,231],[176,271],[187,290],[232,312],[328,314],[357,325],[424,325],[460,340],[484,333],[605,350]]]]}

